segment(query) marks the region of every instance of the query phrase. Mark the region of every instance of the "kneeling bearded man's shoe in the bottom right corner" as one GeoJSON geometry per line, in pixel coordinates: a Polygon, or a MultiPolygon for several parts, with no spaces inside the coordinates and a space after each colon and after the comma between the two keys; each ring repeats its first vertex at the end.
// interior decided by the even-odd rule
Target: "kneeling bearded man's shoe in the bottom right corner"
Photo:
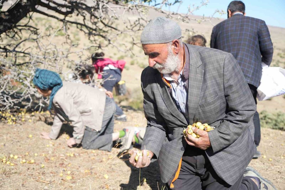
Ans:
{"type": "Polygon", "coordinates": [[[248,166],[245,169],[243,177],[249,177],[252,179],[260,190],[277,190],[271,181],[261,177],[261,175],[253,167],[248,166]]]}

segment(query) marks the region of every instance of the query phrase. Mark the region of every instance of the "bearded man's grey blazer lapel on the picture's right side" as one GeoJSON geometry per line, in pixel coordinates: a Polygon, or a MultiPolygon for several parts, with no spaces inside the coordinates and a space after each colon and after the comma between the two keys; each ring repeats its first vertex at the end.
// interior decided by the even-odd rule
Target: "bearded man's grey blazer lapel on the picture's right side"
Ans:
{"type": "Polygon", "coordinates": [[[199,52],[189,45],[187,45],[187,47],[190,58],[188,78],[188,115],[189,122],[191,124],[199,103],[204,70],[198,68],[202,64],[199,52]]]}

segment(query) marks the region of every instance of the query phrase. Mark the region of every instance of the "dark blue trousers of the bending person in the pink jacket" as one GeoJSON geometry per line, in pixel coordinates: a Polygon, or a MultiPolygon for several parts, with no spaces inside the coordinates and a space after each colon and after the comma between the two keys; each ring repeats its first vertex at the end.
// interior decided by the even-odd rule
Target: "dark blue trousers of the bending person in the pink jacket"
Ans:
{"type": "MultiPolygon", "coordinates": [[[[120,69],[108,69],[104,70],[103,83],[101,84],[106,90],[112,92],[115,84],[121,80],[121,70],[120,69]]],[[[116,116],[123,115],[123,110],[116,104],[116,116]]]]}

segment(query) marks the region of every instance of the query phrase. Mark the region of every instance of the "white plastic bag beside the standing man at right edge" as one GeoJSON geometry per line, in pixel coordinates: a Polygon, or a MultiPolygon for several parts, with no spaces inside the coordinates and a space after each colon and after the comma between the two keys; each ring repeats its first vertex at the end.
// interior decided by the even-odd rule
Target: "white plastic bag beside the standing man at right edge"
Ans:
{"type": "Polygon", "coordinates": [[[281,67],[268,67],[262,64],[262,76],[257,88],[257,99],[268,98],[285,94],[285,69],[281,67]]]}

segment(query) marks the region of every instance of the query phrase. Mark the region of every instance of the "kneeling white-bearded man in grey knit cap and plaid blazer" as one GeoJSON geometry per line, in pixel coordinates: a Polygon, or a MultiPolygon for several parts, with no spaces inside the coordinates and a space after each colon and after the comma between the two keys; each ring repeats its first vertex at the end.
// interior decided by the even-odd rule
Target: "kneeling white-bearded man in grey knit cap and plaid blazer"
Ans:
{"type": "Polygon", "coordinates": [[[256,105],[237,61],[227,52],[182,43],[181,36],[178,24],[165,17],[143,29],[147,126],[143,155],[135,162],[137,151],[131,150],[130,163],[140,168],[158,159],[170,189],[274,189],[247,167],[256,150],[256,105]],[[200,138],[184,138],[183,127],[196,122],[215,130],[194,128],[200,138]]]}

